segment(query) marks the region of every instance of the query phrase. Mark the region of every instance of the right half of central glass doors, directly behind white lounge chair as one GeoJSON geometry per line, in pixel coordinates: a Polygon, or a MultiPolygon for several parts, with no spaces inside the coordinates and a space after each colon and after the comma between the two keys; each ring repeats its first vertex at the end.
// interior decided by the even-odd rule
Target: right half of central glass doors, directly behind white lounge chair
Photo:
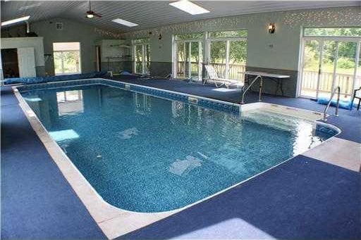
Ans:
{"type": "Polygon", "coordinates": [[[245,80],[247,30],[208,32],[208,62],[219,77],[245,80]]]}

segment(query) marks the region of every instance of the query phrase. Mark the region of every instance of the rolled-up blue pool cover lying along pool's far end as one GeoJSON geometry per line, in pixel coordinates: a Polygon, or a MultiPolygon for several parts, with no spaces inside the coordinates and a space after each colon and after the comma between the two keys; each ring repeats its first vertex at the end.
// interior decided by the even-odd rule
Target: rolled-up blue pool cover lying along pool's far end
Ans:
{"type": "Polygon", "coordinates": [[[41,83],[41,82],[59,82],[59,81],[69,81],[69,80],[80,80],[94,77],[104,77],[106,71],[102,72],[89,72],[81,74],[71,74],[71,75],[59,75],[59,76],[47,76],[47,77],[14,77],[14,78],[5,78],[4,84],[32,84],[32,83],[41,83]]]}

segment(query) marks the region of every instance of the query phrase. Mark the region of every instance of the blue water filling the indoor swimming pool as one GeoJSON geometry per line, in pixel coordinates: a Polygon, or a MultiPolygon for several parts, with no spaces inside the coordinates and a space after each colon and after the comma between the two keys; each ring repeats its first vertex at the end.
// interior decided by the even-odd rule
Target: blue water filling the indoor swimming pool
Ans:
{"type": "Polygon", "coordinates": [[[104,85],[22,93],[108,203],[137,212],[187,206],[319,144],[312,122],[241,117],[104,85]]]}

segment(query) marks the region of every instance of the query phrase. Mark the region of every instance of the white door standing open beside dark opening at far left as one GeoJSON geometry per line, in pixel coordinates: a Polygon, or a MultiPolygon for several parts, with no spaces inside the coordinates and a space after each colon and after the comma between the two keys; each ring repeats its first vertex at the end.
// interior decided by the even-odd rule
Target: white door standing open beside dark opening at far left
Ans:
{"type": "Polygon", "coordinates": [[[35,51],[33,47],[18,49],[18,63],[20,77],[36,77],[35,51]]]}

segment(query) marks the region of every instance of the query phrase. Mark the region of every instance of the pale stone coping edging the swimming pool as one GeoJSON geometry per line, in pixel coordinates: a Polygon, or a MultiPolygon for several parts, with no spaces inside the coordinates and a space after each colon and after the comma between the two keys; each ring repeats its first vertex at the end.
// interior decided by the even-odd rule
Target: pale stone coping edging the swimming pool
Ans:
{"type": "MultiPolygon", "coordinates": [[[[114,81],[114,80],[109,80],[114,81]]],[[[116,81],[118,82],[118,81],[116,81]]],[[[123,82],[124,84],[129,84],[127,82],[123,82]]],[[[130,84],[132,85],[132,84],[130,84]]],[[[135,86],[140,87],[147,87],[144,85],[138,85],[133,84],[135,86]]],[[[87,210],[89,211],[90,215],[93,217],[94,221],[97,222],[97,225],[100,229],[102,229],[102,232],[106,235],[108,239],[114,239],[118,236],[122,236],[124,234],[128,234],[130,232],[133,232],[137,229],[140,229],[142,227],[145,227],[147,225],[150,225],[154,222],[157,222],[161,219],[164,219],[166,217],[169,217],[170,215],[173,215],[175,213],[179,213],[182,210],[185,210],[187,208],[190,208],[191,206],[195,206],[197,203],[201,203],[203,201],[206,201],[209,198],[212,198],[214,196],[217,196],[219,194],[224,193],[225,191],[228,191],[229,189],[233,189],[234,187],[237,187],[238,185],[242,184],[243,182],[247,182],[248,180],[257,177],[258,175],[262,175],[264,172],[267,172],[271,170],[272,168],[276,168],[278,165],[281,165],[283,163],[286,163],[291,158],[288,158],[287,160],[284,160],[283,162],[274,165],[273,167],[264,170],[263,172],[259,172],[257,175],[254,175],[248,179],[243,180],[242,182],[238,182],[237,184],[233,184],[233,186],[228,187],[222,191],[217,192],[216,194],[212,194],[211,196],[208,196],[207,198],[203,198],[200,201],[197,201],[195,203],[191,203],[188,206],[185,206],[183,208],[178,208],[176,210],[170,210],[166,212],[161,213],[137,213],[132,212],[129,210],[123,210],[121,208],[117,208],[115,206],[112,206],[111,204],[104,201],[102,196],[100,196],[97,191],[92,187],[92,185],[85,179],[85,177],[81,174],[81,172],[78,170],[78,168],[75,167],[75,165],[72,163],[72,161],[66,156],[66,154],[63,152],[61,147],[56,144],[56,142],[51,139],[49,133],[45,129],[44,125],[42,125],[42,122],[39,121],[37,118],[37,115],[32,111],[30,106],[27,105],[27,102],[23,99],[23,96],[21,96],[20,92],[18,91],[17,87],[14,86],[13,91],[16,96],[16,98],[19,101],[20,108],[22,108],[23,112],[25,113],[25,116],[27,120],[29,120],[30,125],[32,126],[33,130],[37,133],[39,139],[44,144],[45,148],[49,152],[49,155],[51,158],[53,158],[54,162],[58,166],[58,168],[61,170],[61,173],[63,176],[67,179],[69,184],[71,184],[71,187],[75,191],[75,193],[78,195],[82,203],[85,205],[87,210]]],[[[151,87],[149,87],[151,88],[151,87]]],[[[157,89],[152,87],[152,89],[157,89]]],[[[160,91],[168,91],[164,89],[157,89],[160,91]]],[[[176,94],[182,94],[176,91],[169,91],[176,94]]],[[[184,94],[187,96],[191,96],[196,99],[206,99],[208,101],[218,101],[222,103],[228,103],[225,101],[219,101],[215,99],[208,99],[201,96],[195,96],[191,94],[184,94]]],[[[250,110],[250,109],[256,109],[256,108],[278,108],[282,109],[282,111],[285,110],[292,110],[293,113],[307,113],[311,114],[313,116],[317,116],[317,118],[321,118],[322,114],[309,111],[309,110],[303,110],[300,108],[290,108],[287,106],[280,106],[275,105],[271,103],[249,103],[249,104],[236,104],[236,103],[228,103],[232,105],[239,106],[243,110],[250,110]]],[[[333,125],[329,125],[323,122],[320,122],[322,125],[327,125],[329,127],[334,128],[338,131],[338,134],[341,132],[337,127],[334,127],[333,125]]],[[[331,137],[333,138],[333,137],[331,137]]],[[[326,141],[329,141],[327,139],[326,141]]],[[[326,142],[324,141],[324,142],[326,142]]],[[[323,144],[323,143],[322,143],[323,144]]],[[[295,156],[293,156],[295,157],[295,156]]],[[[292,158],[293,158],[292,157],[292,158]]]]}

